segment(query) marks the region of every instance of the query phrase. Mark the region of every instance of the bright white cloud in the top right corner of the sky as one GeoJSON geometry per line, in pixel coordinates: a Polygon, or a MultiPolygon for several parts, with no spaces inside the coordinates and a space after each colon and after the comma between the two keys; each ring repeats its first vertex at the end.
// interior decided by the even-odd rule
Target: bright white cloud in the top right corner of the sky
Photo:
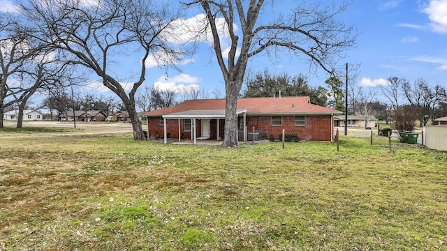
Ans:
{"type": "Polygon", "coordinates": [[[447,0],[430,0],[423,13],[428,15],[434,31],[447,33],[447,0]]]}

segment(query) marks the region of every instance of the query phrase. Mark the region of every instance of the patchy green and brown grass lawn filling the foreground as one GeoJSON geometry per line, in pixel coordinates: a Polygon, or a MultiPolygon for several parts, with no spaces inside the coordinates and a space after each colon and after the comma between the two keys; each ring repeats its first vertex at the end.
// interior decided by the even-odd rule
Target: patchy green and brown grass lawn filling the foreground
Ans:
{"type": "Polygon", "coordinates": [[[446,152],[18,136],[0,134],[0,250],[447,249],[446,152]]]}

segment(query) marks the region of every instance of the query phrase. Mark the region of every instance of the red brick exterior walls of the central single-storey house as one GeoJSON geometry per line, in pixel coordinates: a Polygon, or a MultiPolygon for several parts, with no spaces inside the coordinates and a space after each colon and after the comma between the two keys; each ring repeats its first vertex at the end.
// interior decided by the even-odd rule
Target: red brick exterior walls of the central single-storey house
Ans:
{"type": "MultiPolygon", "coordinates": [[[[252,132],[253,127],[255,132],[265,132],[267,137],[273,135],[274,139],[279,140],[279,135],[285,129],[286,134],[298,135],[298,139],[310,141],[330,141],[332,138],[332,124],[331,116],[305,116],[305,126],[295,126],[295,116],[282,116],[281,126],[272,126],[272,116],[247,116],[248,131],[252,132]]],[[[220,137],[223,138],[224,120],[219,120],[220,137]]],[[[149,137],[154,137],[156,134],[163,137],[163,126],[159,126],[159,118],[148,118],[149,137]]],[[[180,132],[184,132],[183,120],[180,120],[180,132]]],[[[200,120],[196,119],[197,137],[200,137],[200,120]]],[[[178,139],[178,119],[167,120],[167,131],[170,132],[170,137],[178,139]]],[[[210,137],[217,138],[217,120],[210,121],[210,137]]],[[[185,139],[191,139],[191,132],[184,132],[185,139]]]]}

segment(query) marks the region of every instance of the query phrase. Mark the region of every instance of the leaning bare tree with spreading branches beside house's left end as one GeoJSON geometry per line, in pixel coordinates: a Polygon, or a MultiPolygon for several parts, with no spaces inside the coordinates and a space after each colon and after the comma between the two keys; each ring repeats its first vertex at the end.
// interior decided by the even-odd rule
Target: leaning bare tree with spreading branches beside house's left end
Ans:
{"type": "MultiPolygon", "coordinates": [[[[164,31],[177,15],[165,1],[104,0],[64,1],[29,0],[22,6],[28,22],[40,27],[41,38],[61,50],[61,56],[75,65],[84,66],[101,77],[103,85],[124,103],[132,122],[133,139],[145,139],[135,109],[135,93],[145,80],[145,61],[149,55],[164,62],[178,59],[182,53],[167,43],[164,31]],[[126,91],[123,73],[115,73],[114,55],[134,47],[140,52],[138,76],[126,91]]],[[[129,81],[127,81],[129,82],[129,81]]]]}

